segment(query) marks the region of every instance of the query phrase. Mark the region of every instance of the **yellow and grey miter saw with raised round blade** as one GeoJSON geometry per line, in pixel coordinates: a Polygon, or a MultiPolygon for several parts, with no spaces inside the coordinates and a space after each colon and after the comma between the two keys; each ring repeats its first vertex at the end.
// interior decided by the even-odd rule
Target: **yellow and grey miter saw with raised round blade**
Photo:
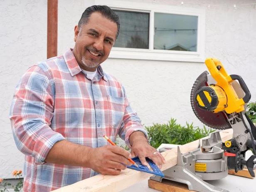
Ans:
{"type": "MultiPolygon", "coordinates": [[[[151,180],[173,180],[199,192],[227,192],[204,180],[217,180],[227,176],[228,170],[243,170],[254,175],[256,128],[246,114],[251,98],[249,89],[239,75],[228,75],[222,63],[214,58],[205,60],[210,72],[204,71],[194,82],[190,101],[194,114],[205,125],[219,130],[233,129],[233,138],[222,143],[219,132],[199,143],[198,149],[182,154],[178,147],[177,165],[163,171],[165,177],[152,176],[151,180]],[[252,149],[254,155],[245,160],[252,149]]],[[[159,151],[168,150],[161,148],[159,151]]]]}

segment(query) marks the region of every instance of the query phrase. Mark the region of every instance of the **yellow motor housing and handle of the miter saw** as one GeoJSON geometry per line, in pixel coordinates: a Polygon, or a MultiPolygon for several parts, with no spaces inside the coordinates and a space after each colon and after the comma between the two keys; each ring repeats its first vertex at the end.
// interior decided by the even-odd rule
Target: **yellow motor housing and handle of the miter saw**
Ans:
{"type": "MultiPolygon", "coordinates": [[[[244,101],[244,98],[240,99],[237,96],[236,91],[231,85],[231,82],[236,79],[237,75],[233,75],[233,78],[229,76],[218,59],[207,58],[205,64],[217,83],[203,86],[197,91],[195,95],[197,105],[203,110],[212,111],[214,113],[224,110],[229,114],[244,111],[246,101],[244,101]]],[[[239,80],[241,84],[241,81],[244,81],[240,78],[237,80],[239,80]]]]}

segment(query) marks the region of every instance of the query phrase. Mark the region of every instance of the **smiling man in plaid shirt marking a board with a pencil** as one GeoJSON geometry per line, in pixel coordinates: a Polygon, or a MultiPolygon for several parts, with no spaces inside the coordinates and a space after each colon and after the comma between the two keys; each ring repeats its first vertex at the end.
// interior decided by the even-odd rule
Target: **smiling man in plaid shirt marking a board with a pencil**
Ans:
{"type": "Polygon", "coordinates": [[[30,67],[16,87],[10,120],[24,153],[24,191],[51,191],[97,173],[118,175],[128,158],[165,162],[127,100],[123,86],[103,72],[118,37],[118,16],[91,6],[74,28],[74,49],[30,67]],[[119,135],[131,153],[103,138],[119,135]]]}

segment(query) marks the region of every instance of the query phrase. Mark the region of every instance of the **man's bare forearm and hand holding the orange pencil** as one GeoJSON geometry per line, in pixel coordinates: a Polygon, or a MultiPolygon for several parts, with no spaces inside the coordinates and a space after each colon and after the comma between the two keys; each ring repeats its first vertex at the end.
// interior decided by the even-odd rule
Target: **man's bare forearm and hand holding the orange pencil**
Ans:
{"type": "Polygon", "coordinates": [[[126,165],[132,165],[128,158],[131,154],[118,146],[90,148],[61,140],[53,145],[45,162],[89,167],[101,174],[119,175],[126,165]]]}

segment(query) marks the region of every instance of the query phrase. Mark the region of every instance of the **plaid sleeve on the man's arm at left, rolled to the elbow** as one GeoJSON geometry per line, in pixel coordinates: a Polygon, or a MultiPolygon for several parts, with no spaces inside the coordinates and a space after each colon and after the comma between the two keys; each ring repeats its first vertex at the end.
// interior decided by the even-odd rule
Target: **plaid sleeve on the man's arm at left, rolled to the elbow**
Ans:
{"type": "Polygon", "coordinates": [[[44,163],[56,142],[65,139],[50,127],[53,111],[50,75],[39,66],[32,66],[16,86],[10,121],[17,148],[39,164],[44,163]]]}

